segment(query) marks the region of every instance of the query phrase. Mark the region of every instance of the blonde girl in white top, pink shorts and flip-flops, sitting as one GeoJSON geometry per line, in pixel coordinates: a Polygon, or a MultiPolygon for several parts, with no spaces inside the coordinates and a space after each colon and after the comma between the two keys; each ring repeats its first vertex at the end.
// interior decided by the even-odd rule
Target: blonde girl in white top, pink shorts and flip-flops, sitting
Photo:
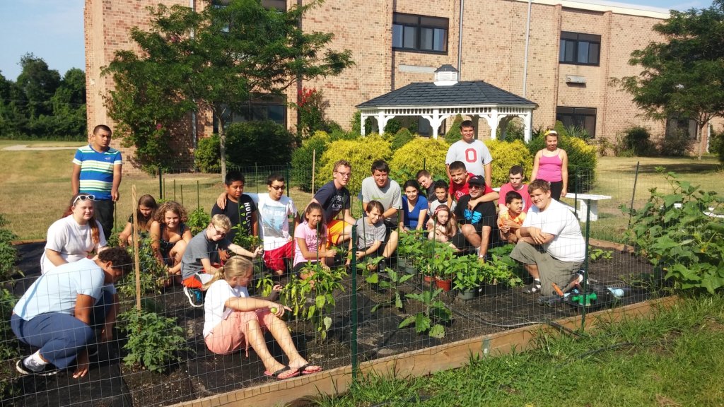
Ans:
{"type": "MultiPolygon", "coordinates": [[[[251,345],[266,368],[264,374],[280,380],[321,372],[320,366],[309,364],[299,354],[287,324],[279,319],[285,312],[285,306],[249,297],[246,286],[251,282],[252,272],[249,259],[232,256],[204,285],[203,340],[209,351],[227,355],[244,348],[248,356],[251,345]],[[289,358],[288,366],[279,363],[269,353],[264,340],[267,330],[289,358]]],[[[274,286],[274,291],[280,289],[281,286],[274,286]]]]}

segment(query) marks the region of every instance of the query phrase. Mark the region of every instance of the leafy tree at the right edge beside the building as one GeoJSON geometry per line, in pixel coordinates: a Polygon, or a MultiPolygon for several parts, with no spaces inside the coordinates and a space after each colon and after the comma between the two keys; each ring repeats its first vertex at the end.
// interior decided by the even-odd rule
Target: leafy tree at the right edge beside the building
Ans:
{"type": "Polygon", "coordinates": [[[653,29],[665,42],[633,51],[628,61],[641,65],[641,74],[611,83],[631,93],[648,117],[694,119],[701,159],[704,126],[724,114],[724,0],[708,9],[672,10],[653,29]]]}

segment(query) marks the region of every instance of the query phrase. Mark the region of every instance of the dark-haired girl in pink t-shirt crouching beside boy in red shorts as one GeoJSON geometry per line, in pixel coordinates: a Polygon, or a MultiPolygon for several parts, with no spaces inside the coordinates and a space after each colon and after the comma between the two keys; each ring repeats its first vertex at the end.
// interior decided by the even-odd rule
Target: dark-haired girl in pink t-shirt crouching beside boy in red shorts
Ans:
{"type": "Polygon", "coordinates": [[[336,251],[327,249],[327,226],[324,222],[324,210],[320,204],[312,202],[304,211],[304,222],[294,229],[296,240],[294,250],[294,272],[302,279],[311,277],[301,273],[309,261],[319,261],[322,267],[332,266],[336,251]]]}

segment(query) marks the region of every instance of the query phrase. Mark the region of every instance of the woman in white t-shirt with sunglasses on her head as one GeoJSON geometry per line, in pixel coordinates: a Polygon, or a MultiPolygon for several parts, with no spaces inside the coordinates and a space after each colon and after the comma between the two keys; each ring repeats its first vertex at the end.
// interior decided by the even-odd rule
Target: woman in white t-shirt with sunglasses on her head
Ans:
{"type": "Polygon", "coordinates": [[[45,274],[61,264],[91,257],[106,248],[101,223],[96,220],[93,195],[78,193],[70,208],[48,228],[41,272],[45,274]]]}

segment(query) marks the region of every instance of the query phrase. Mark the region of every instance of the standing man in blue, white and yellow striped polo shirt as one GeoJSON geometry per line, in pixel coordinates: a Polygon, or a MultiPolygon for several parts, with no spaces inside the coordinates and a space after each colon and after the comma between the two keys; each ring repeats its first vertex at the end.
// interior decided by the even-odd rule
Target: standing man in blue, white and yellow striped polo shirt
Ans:
{"type": "Polygon", "coordinates": [[[73,193],[95,197],[96,219],[101,222],[106,240],[113,230],[113,206],[119,198],[122,165],[120,151],[111,148],[111,128],[106,125],[97,125],[90,144],[78,148],[73,158],[73,193]]]}

